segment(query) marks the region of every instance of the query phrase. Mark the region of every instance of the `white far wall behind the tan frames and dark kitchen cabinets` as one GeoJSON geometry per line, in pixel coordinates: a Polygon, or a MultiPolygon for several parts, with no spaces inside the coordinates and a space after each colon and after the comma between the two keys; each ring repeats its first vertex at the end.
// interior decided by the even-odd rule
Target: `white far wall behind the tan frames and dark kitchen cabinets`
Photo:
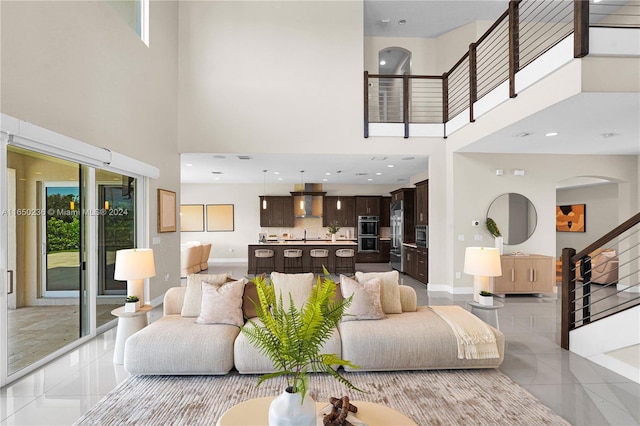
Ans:
{"type": "MultiPolygon", "coordinates": [[[[382,195],[398,189],[392,185],[323,185],[327,195],[382,195]]],[[[290,185],[269,185],[267,195],[290,195],[290,185]]],[[[247,261],[247,245],[258,242],[260,232],[291,232],[302,236],[302,229],[307,229],[307,237],[323,236],[326,228],[322,227],[322,219],[296,219],[294,228],[261,228],[260,196],[262,185],[234,184],[182,184],[181,204],[234,204],[233,232],[182,232],[182,242],[200,241],[212,243],[210,259],[212,262],[247,261]]],[[[352,235],[355,230],[352,230],[352,235]]]]}

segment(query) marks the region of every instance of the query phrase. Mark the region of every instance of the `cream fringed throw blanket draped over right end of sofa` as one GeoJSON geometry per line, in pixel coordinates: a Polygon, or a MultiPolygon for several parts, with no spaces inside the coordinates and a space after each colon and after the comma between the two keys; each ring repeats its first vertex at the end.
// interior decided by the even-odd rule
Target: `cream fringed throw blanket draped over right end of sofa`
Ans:
{"type": "Polygon", "coordinates": [[[491,328],[460,306],[430,306],[446,321],[458,340],[458,359],[500,358],[491,328]]]}

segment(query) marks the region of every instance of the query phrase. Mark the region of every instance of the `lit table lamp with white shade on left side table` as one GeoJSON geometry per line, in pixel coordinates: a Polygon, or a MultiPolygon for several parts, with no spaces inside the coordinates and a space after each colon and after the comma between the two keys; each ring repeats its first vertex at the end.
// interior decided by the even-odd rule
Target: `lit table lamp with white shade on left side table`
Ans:
{"type": "Polygon", "coordinates": [[[113,278],[127,282],[127,296],[138,296],[144,303],[144,280],[155,275],[152,249],[135,248],[116,252],[113,278]]]}

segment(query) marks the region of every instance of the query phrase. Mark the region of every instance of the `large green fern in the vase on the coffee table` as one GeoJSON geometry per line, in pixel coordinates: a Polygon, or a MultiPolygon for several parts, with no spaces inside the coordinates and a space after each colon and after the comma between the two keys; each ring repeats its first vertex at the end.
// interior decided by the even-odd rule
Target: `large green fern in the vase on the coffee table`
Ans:
{"type": "Polygon", "coordinates": [[[282,295],[276,298],[273,286],[267,285],[264,276],[252,279],[258,292],[259,301],[253,304],[260,323],[249,320],[251,326],[242,327],[242,333],[277,369],[260,376],[258,386],[265,380],[286,376],[287,390],[300,392],[304,400],[309,373],[318,371],[330,374],[350,389],[360,390],[332,368],[358,366],[336,354],[319,353],[351,304],[351,298],[335,300],[336,284],[328,278],[326,269],[325,275],[325,278],[318,277],[302,308],[296,308],[291,295],[288,304],[282,295]]]}

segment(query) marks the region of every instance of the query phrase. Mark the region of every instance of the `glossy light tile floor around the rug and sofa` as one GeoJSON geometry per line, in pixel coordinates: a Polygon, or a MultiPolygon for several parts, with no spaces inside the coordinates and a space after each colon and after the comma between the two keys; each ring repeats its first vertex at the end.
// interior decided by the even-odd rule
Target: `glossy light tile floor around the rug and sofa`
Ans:
{"type": "MultiPolygon", "coordinates": [[[[388,265],[359,264],[383,271],[388,265]]],[[[246,274],[246,264],[214,265],[210,273],[246,274]]],[[[456,304],[471,295],[427,292],[403,276],[419,304],[456,304]]],[[[504,299],[498,310],[507,346],[500,370],[574,425],[640,424],[640,385],[559,347],[560,305],[555,297],[504,299]]],[[[150,321],[162,315],[156,308],[150,321]]],[[[69,425],[127,379],[115,365],[115,329],[0,390],[0,425],[69,425]]],[[[509,398],[509,395],[505,395],[509,398]]]]}

